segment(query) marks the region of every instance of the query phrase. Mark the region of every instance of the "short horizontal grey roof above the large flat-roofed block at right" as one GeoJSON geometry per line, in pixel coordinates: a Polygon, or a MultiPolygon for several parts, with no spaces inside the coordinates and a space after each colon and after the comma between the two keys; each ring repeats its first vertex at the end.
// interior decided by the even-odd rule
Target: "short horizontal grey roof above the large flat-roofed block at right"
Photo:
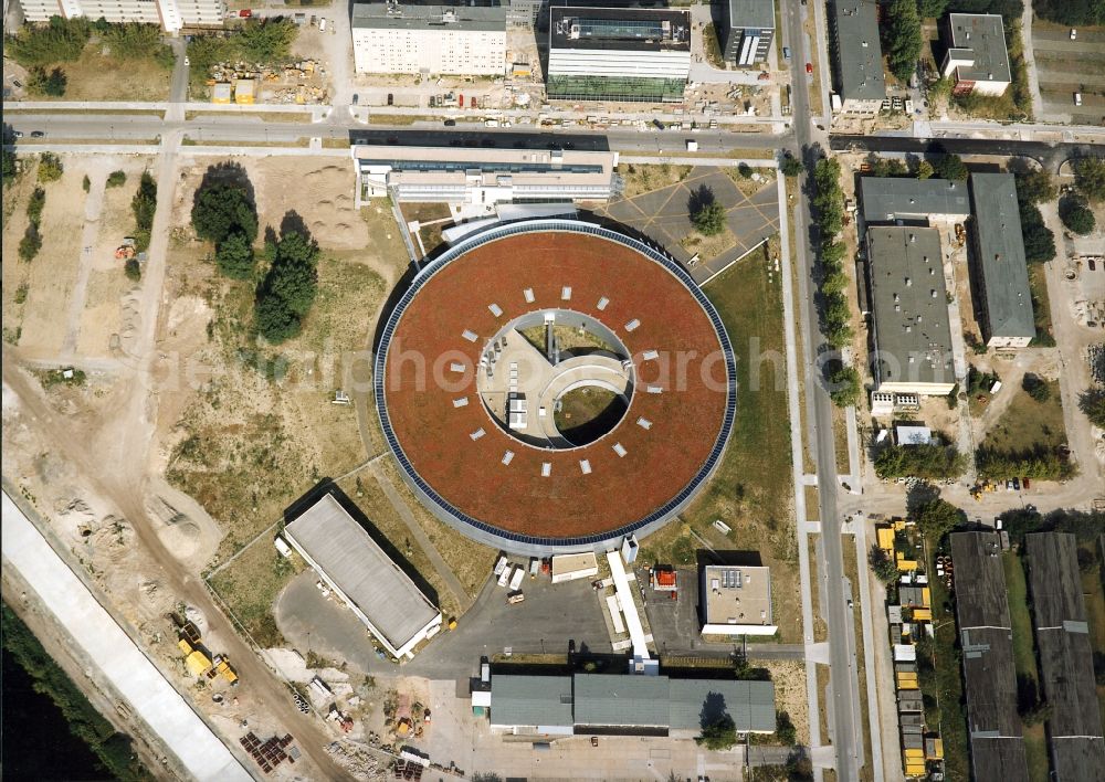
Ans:
{"type": "Polygon", "coordinates": [[[970,214],[967,183],[913,177],[862,177],[860,200],[867,224],[895,220],[966,220],[970,214]]]}

